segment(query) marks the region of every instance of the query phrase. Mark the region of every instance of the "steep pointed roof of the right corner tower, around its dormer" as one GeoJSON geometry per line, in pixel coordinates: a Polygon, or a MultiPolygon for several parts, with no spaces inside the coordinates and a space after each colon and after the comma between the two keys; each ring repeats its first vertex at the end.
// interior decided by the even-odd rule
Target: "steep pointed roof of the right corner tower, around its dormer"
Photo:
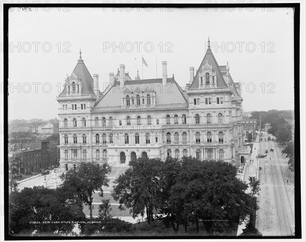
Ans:
{"type": "Polygon", "coordinates": [[[209,65],[212,66],[212,69],[214,72],[216,72],[217,75],[217,87],[224,87],[225,81],[223,79],[223,76],[221,74],[221,71],[219,69],[219,65],[213,55],[213,52],[211,48],[209,47],[206,51],[206,54],[193,78],[193,82],[190,85],[190,88],[198,88],[199,87],[199,73],[202,72],[202,66],[205,66],[206,62],[208,62],[209,65]]]}

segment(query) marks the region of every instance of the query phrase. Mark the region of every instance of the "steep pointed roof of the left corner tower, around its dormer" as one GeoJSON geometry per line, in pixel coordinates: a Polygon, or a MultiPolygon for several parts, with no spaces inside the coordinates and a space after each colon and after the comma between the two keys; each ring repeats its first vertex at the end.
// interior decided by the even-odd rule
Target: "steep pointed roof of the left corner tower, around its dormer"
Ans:
{"type": "MultiPolygon", "coordinates": [[[[84,61],[82,60],[81,52],[80,52],[80,59],[78,60],[78,63],[74,67],[74,70],[72,71],[72,73],[74,75],[78,75],[78,77],[81,79],[81,83],[82,83],[81,95],[89,95],[89,94],[95,95],[93,92],[93,78],[90,75],[84,61]]],[[[67,89],[67,86],[65,85],[64,90],[59,96],[66,96],[66,89],[67,89]]]]}

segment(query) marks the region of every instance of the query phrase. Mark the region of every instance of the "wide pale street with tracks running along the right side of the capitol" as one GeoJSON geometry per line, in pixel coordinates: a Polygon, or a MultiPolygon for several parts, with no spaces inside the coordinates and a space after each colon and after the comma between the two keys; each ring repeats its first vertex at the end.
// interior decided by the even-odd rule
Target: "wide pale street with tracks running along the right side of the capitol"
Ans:
{"type": "Polygon", "coordinates": [[[257,229],[263,236],[293,236],[294,173],[288,169],[289,158],[282,155],[284,146],[268,141],[268,136],[264,133],[260,145],[260,154],[268,150],[268,155],[259,159],[261,191],[258,196],[257,229]]]}

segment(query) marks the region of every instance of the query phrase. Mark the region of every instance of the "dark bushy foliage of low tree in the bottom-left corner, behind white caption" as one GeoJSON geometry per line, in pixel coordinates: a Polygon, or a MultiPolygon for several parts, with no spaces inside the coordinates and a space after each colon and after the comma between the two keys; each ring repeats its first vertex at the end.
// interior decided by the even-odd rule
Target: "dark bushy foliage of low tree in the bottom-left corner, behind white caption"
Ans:
{"type": "Polygon", "coordinates": [[[62,189],[25,187],[9,196],[9,233],[66,233],[82,221],[82,203],[62,189]],[[66,221],[66,223],[60,223],[66,221]],[[68,223],[67,223],[68,222],[68,223]]]}

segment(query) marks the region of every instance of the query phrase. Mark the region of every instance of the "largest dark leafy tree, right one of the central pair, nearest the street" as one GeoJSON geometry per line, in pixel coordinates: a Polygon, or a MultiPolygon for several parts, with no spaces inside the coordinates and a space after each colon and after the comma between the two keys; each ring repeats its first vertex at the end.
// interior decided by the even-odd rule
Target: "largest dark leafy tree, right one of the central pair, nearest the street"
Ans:
{"type": "Polygon", "coordinates": [[[247,184],[236,174],[232,164],[184,157],[170,190],[170,206],[184,207],[183,220],[196,224],[197,232],[199,220],[210,232],[230,232],[256,206],[252,196],[246,194],[247,184]]]}

